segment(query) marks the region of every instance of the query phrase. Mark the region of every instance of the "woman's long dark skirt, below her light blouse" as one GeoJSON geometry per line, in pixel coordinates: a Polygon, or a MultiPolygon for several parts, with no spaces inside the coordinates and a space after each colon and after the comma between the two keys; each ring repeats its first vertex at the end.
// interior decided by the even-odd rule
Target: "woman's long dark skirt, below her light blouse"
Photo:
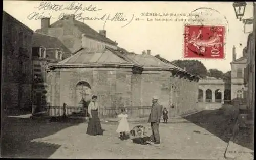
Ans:
{"type": "Polygon", "coordinates": [[[91,110],[92,118],[89,119],[87,126],[87,135],[103,135],[100,120],[98,117],[98,110],[91,110]]]}

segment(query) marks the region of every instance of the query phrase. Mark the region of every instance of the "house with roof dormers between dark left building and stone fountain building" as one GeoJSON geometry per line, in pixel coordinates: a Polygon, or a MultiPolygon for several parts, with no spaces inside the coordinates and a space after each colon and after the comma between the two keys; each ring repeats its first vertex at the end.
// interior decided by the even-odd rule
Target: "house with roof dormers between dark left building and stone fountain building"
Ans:
{"type": "Polygon", "coordinates": [[[48,94],[48,66],[70,57],[70,50],[57,38],[41,33],[34,33],[32,37],[33,55],[33,109],[36,106],[49,103],[48,94]]]}

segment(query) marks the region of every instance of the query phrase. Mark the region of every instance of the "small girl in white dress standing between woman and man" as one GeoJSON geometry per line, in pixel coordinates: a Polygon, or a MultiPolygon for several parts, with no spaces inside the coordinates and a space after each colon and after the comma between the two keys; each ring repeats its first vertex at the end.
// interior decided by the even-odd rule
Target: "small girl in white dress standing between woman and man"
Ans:
{"type": "Polygon", "coordinates": [[[122,113],[117,116],[120,121],[116,131],[119,132],[121,140],[127,140],[127,138],[125,138],[125,132],[130,132],[129,123],[127,121],[128,115],[125,109],[121,109],[121,111],[122,113]]]}

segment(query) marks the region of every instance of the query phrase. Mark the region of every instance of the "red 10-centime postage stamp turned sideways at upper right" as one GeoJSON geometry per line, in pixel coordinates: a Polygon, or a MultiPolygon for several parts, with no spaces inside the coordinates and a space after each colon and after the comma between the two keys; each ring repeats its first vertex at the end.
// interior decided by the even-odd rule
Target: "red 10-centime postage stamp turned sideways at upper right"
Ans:
{"type": "Polygon", "coordinates": [[[185,25],[185,58],[224,59],[224,26],[185,25]]]}

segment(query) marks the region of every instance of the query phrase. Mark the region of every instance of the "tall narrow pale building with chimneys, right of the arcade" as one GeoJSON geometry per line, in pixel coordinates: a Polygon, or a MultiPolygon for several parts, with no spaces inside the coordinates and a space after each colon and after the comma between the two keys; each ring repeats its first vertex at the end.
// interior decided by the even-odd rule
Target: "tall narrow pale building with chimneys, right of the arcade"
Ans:
{"type": "Polygon", "coordinates": [[[233,47],[233,61],[231,64],[231,99],[246,98],[246,87],[244,86],[244,72],[247,55],[245,49],[243,56],[236,59],[236,48],[233,47]]]}

